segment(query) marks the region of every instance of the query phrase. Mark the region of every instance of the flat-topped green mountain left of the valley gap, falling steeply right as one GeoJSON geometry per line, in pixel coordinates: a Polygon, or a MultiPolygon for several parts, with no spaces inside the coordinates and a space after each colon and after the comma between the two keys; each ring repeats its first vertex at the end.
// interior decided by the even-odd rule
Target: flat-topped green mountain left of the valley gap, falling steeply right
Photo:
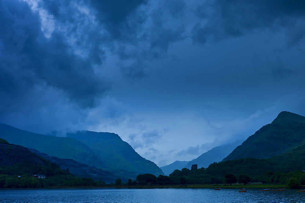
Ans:
{"type": "Polygon", "coordinates": [[[68,133],[88,145],[107,165],[106,169],[118,176],[134,178],[138,174],[152,173],[163,175],[162,170],[153,162],[144,159],[119,135],[109,132],[77,131],[68,133]]]}

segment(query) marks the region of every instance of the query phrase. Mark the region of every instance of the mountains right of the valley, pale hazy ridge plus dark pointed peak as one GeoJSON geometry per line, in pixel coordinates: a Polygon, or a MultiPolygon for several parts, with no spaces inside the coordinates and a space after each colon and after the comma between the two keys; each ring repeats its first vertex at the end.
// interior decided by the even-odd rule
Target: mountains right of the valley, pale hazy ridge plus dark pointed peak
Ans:
{"type": "Polygon", "coordinates": [[[282,111],[271,124],[263,126],[244,142],[236,141],[229,145],[214,147],[192,161],[175,161],[160,168],[167,175],[175,169],[190,169],[192,164],[197,164],[198,168],[206,168],[213,162],[247,157],[272,158],[272,160],[278,160],[278,157],[282,157],[283,160],[287,161],[289,160],[288,156],[294,157],[294,159],[303,157],[304,151],[305,117],[282,111]]]}

